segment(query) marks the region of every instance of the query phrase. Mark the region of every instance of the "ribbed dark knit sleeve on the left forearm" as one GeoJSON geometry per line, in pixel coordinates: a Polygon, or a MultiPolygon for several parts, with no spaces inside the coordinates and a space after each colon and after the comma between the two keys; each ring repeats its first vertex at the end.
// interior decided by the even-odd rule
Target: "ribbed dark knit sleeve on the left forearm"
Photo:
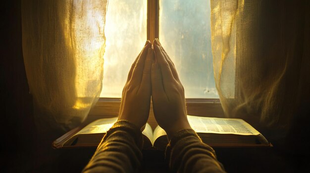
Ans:
{"type": "Polygon", "coordinates": [[[142,162],[143,137],[128,121],[117,121],[105,134],[83,173],[133,173],[142,162]]]}

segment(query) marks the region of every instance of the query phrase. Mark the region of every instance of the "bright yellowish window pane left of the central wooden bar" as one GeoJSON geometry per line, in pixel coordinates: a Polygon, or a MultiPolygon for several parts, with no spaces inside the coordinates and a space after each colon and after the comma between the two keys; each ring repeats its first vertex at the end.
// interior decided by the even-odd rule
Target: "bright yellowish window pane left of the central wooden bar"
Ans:
{"type": "Polygon", "coordinates": [[[110,0],[100,97],[121,98],[128,71],[147,40],[147,0],[110,0]]]}

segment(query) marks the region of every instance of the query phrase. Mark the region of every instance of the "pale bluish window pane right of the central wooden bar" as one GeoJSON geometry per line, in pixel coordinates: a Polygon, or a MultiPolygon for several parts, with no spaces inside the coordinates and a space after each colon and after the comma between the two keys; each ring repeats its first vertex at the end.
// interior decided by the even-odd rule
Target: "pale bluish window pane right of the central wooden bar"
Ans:
{"type": "Polygon", "coordinates": [[[209,0],[160,0],[159,41],[178,70],[186,98],[218,98],[209,0]]]}

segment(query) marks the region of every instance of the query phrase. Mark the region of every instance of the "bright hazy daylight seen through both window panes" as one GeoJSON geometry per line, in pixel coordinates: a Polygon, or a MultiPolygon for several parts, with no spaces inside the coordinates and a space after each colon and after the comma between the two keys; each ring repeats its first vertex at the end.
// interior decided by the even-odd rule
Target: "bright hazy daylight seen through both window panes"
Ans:
{"type": "MultiPolygon", "coordinates": [[[[213,77],[209,0],[160,0],[159,40],[176,65],[186,98],[218,98],[213,77]]],[[[101,97],[121,98],[147,39],[147,0],[111,0],[105,25],[101,97]]]]}

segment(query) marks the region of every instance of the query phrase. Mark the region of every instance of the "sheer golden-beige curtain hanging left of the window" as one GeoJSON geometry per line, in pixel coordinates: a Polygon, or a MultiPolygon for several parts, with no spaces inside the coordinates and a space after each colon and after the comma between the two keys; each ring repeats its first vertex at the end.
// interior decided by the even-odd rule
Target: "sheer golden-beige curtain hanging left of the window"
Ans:
{"type": "Polygon", "coordinates": [[[102,89],[107,0],[22,0],[23,56],[37,125],[71,129],[102,89]]]}

